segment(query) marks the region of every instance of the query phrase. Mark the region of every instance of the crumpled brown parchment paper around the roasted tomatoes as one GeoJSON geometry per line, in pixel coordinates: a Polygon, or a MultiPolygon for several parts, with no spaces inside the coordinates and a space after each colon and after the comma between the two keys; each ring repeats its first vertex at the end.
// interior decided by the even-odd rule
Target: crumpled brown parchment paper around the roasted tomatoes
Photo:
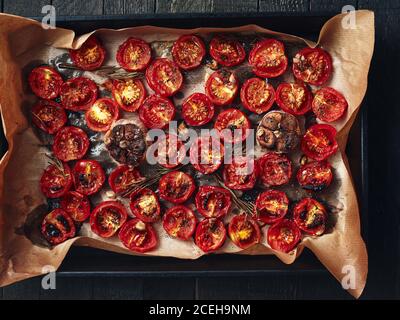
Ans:
{"type": "MultiPolygon", "coordinates": [[[[342,27],[346,16],[337,15],[321,29],[318,44],[333,57],[334,74],[327,84],[342,92],[349,103],[347,115],[334,125],[338,129],[340,152],[330,158],[339,181],[337,192],[328,201],[335,205],[335,224],[329,233],[318,237],[305,237],[297,250],[291,254],[273,252],[265,241],[248,250],[240,251],[229,240],[220,253],[275,254],[283,262],[292,263],[309,248],[335,276],[338,281],[355,271],[355,287],[349,292],[359,297],[367,277],[367,251],[360,236],[360,219],[348,163],[344,154],[349,129],[367,88],[367,75],[374,46],[374,15],[370,11],[355,13],[355,28],[342,27]]],[[[106,64],[115,65],[115,52],[119,43],[128,36],[139,36],[147,41],[175,40],[180,34],[230,32],[243,34],[266,34],[292,42],[300,47],[315,46],[316,43],[263,29],[255,25],[238,28],[200,28],[194,30],[159,27],[134,27],[123,30],[99,29],[94,31],[105,44],[109,54],[106,64]]],[[[76,38],[71,30],[61,28],[45,30],[41,24],[22,17],[0,15],[0,108],[8,151],[0,162],[0,286],[42,274],[43,266],[58,268],[72,244],[91,246],[115,252],[134,254],[123,248],[117,239],[105,240],[97,237],[84,224],[79,236],[56,247],[32,241],[23,228],[26,222],[46,210],[45,198],[39,190],[38,181],[46,167],[45,152],[40,140],[29,124],[29,113],[35,98],[26,83],[26,69],[39,59],[66,52],[66,48],[79,48],[90,34],[76,38]],[[28,111],[27,111],[28,110],[28,111]]],[[[203,253],[193,242],[169,239],[162,228],[160,245],[148,255],[173,256],[196,259],[203,253]]],[[[265,235],[266,230],[263,230],[265,235]]]]}

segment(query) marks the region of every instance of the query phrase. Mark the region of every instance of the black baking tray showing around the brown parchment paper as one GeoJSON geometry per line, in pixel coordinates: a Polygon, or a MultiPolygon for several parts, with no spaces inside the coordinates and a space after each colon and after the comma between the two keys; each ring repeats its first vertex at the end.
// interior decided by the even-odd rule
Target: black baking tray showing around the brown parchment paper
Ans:
{"type": "MultiPolygon", "coordinates": [[[[169,28],[237,27],[257,24],[271,30],[318,39],[323,24],[332,17],[325,13],[251,13],[251,14],[170,14],[57,17],[57,26],[72,29],[77,35],[98,28],[126,28],[153,25],[169,28]]],[[[33,17],[40,21],[41,18],[33,17]]],[[[0,124],[1,126],[1,124],[0,124]]],[[[367,106],[363,105],[351,129],[346,154],[360,205],[362,235],[368,228],[367,106]]],[[[0,155],[7,150],[0,130],[0,155]]],[[[60,276],[250,276],[271,273],[327,273],[317,258],[305,249],[291,265],[273,255],[207,255],[197,260],[130,256],[104,250],[72,247],[63,261],[60,276]]]]}

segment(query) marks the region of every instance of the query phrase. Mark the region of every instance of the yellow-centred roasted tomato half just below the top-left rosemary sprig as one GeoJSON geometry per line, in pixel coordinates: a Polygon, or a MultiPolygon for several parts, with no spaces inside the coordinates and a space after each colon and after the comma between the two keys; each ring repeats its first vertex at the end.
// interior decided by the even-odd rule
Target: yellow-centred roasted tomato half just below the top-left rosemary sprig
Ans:
{"type": "Polygon", "coordinates": [[[146,90],[139,79],[114,80],[112,95],[122,109],[135,112],[142,105],[146,90]]]}

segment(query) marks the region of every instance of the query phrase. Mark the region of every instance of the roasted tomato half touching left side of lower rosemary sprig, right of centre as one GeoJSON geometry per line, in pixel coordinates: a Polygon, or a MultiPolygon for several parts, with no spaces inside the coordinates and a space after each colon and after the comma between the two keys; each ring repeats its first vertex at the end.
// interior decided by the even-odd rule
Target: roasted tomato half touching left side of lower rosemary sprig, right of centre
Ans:
{"type": "Polygon", "coordinates": [[[205,218],[222,218],[232,205],[230,192],[214,186],[201,186],[195,201],[197,211],[205,218]]]}

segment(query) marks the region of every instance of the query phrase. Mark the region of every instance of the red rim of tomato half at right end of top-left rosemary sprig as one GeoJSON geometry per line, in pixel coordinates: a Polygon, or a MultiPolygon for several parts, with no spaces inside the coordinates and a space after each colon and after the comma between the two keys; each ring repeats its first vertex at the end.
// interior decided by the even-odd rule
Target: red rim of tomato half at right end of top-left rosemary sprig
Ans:
{"type": "Polygon", "coordinates": [[[153,60],[153,62],[150,64],[150,66],[146,69],[146,81],[149,87],[158,95],[168,98],[173,96],[175,93],[177,93],[181,88],[183,84],[183,76],[182,73],[180,72],[180,69],[178,65],[167,58],[157,58],[153,60]],[[159,80],[155,79],[156,75],[154,74],[154,69],[158,68],[160,66],[167,66],[168,68],[172,69],[173,72],[175,72],[175,76],[178,77],[178,84],[176,87],[171,91],[171,90],[166,90],[163,88],[159,80]]]}

